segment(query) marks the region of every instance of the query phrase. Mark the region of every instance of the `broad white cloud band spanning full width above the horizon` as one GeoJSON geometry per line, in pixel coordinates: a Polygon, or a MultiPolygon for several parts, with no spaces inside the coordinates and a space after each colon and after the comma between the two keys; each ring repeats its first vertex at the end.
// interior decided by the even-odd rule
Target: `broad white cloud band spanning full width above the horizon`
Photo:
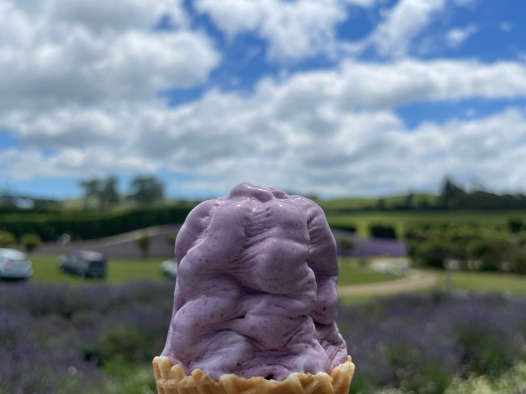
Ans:
{"type": "Polygon", "coordinates": [[[174,109],[158,103],[18,114],[9,127],[25,145],[1,151],[0,169],[18,179],[164,169],[206,175],[212,180],[185,187],[216,191],[244,180],[326,194],[430,190],[448,171],[476,175],[488,186],[519,187],[526,180],[519,161],[526,151],[523,111],[414,130],[393,111],[472,97],[526,97],[526,67],[346,62],[335,71],[261,81],[250,97],[210,91],[174,109]],[[75,142],[81,131],[93,141],[75,142]],[[55,154],[37,149],[46,141],[55,154]]]}

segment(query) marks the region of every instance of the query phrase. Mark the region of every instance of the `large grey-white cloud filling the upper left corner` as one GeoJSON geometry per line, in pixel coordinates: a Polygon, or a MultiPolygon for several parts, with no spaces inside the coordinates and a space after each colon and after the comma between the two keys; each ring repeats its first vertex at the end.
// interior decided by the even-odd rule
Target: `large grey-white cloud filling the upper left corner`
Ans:
{"type": "Polygon", "coordinates": [[[0,112],[144,100],[202,83],[219,54],[177,0],[0,0],[0,112]],[[163,16],[175,31],[155,32],[163,16]]]}

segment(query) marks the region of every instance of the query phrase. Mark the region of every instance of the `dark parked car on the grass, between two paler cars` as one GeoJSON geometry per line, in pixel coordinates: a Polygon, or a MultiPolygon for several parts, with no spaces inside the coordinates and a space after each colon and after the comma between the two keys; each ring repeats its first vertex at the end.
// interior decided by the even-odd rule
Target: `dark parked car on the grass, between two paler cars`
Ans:
{"type": "Polygon", "coordinates": [[[104,254],[88,250],[76,250],[60,261],[61,271],[81,277],[106,277],[107,260],[104,254]]]}

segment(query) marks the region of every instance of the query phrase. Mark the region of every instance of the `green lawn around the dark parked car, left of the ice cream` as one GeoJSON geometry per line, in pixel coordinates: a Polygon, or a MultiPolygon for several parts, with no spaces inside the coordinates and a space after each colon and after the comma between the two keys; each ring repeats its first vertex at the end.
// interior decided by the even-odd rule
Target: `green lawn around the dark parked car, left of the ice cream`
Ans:
{"type": "Polygon", "coordinates": [[[68,282],[80,283],[123,283],[129,280],[147,279],[164,280],[159,264],[164,258],[151,259],[110,259],[108,261],[108,273],[105,280],[80,278],[70,273],[64,273],[58,269],[58,257],[33,255],[32,281],[39,282],[68,282]]]}

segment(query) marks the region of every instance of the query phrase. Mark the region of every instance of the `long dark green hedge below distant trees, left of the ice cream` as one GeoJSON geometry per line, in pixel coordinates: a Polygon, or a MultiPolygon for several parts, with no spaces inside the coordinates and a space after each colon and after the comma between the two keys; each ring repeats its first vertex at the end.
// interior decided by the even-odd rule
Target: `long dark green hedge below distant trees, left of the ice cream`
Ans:
{"type": "Polygon", "coordinates": [[[70,234],[74,240],[95,239],[155,225],[181,223],[194,206],[0,214],[0,230],[13,233],[17,240],[23,234],[38,234],[42,241],[54,241],[64,233],[70,234]]]}

